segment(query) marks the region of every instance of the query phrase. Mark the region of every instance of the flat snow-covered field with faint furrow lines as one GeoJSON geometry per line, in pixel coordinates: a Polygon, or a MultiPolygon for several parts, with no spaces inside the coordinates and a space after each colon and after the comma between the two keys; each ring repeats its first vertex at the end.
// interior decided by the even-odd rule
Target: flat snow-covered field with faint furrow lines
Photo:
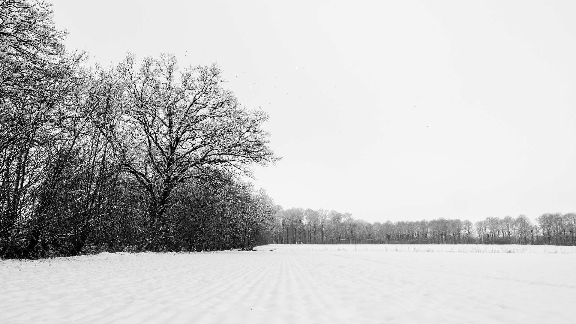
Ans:
{"type": "Polygon", "coordinates": [[[576,323],[575,247],[257,250],[5,260],[0,323],[576,323]]]}

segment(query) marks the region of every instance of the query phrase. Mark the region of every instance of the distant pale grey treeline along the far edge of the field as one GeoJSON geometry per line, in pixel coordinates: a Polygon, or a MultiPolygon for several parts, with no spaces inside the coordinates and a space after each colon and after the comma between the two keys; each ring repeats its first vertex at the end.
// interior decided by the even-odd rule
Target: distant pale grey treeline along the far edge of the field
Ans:
{"type": "Polygon", "coordinates": [[[557,244],[576,245],[576,213],[546,213],[534,222],[487,217],[469,220],[368,223],[350,213],[303,208],[276,209],[267,242],[276,244],[557,244]]]}

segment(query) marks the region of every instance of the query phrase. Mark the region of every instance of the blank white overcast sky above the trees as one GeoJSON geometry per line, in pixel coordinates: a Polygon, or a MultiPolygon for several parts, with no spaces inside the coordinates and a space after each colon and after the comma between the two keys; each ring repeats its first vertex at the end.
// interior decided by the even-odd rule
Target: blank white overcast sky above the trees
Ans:
{"type": "Polygon", "coordinates": [[[576,210],[576,2],[65,1],[67,46],[216,62],[284,208],[367,221],[576,210]],[[162,3],[162,5],[160,5],[162,3]]]}

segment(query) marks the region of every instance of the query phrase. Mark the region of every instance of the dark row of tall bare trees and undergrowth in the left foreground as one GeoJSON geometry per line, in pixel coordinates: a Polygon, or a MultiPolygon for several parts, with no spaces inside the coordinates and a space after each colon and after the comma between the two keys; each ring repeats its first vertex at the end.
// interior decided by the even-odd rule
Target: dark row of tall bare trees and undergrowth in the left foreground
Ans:
{"type": "Polygon", "coordinates": [[[217,66],[70,53],[50,5],[0,0],[0,257],[251,248],[274,214],[242,183],[278,160],[266,112],[217,66]]]}

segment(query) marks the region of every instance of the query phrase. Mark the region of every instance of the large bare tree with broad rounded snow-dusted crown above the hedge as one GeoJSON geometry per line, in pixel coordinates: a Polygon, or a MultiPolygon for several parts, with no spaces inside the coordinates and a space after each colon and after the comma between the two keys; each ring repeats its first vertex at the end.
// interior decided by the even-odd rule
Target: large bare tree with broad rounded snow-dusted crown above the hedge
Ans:
{"type": "Polygon", "coordinates": [[[117,77],[119,100],[102,107],[97,122],[125,171],[146,191],[150,250],[162,236],[177,184],[217,188],[219,172],[251,176],[251,164],[278,160],[262,129],[268,115],[243,108],[223,88],[216,65],[179,70],[175,56],[161,55],[138,68],[128,54],[117,77]]]}

